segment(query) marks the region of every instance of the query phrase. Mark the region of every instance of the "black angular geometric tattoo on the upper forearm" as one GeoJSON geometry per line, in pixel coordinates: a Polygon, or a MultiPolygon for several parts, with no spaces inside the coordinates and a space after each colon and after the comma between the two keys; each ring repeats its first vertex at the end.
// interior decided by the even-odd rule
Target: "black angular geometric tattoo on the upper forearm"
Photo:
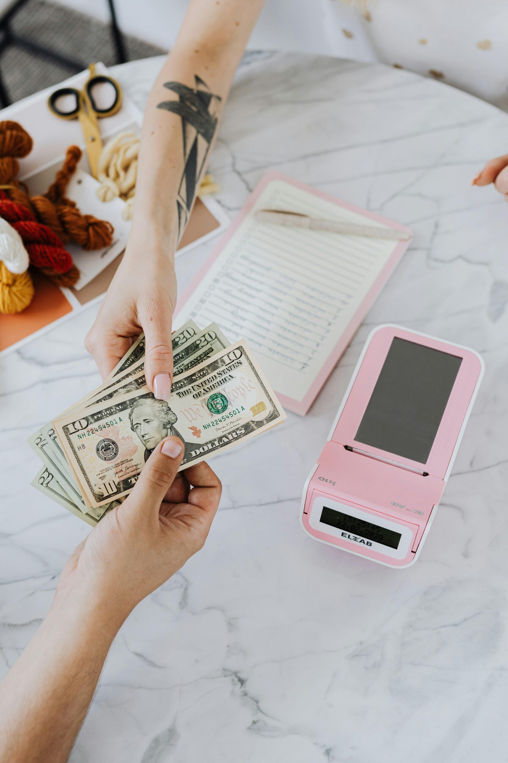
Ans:
{"type": "Polygon", "coordinates": [[[162,101],[157,108],[178,114],[184,134],[184,173],[178,188],[178,237],[184,232],[192,208],[196,185],[216,133],[222,98],[213,95],[203,79],[194,75],[194,89],[181,82],[165,82],[178,95],[177,101],[162,101]]]}

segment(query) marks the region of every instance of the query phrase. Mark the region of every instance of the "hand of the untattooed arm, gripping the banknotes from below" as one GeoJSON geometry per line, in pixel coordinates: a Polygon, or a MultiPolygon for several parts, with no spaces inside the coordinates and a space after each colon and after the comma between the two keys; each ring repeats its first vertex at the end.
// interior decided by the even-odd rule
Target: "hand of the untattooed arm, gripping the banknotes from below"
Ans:
{"type": "Polygon", "coordinates": [[[139,601],[203,547],[222,486],[204,462],[177,472],[183,454],[177,437],[158,444],[126,501],[72,552],[56,600],[85,602],[88,613],[107,614],[116,631],[139,601]]]}

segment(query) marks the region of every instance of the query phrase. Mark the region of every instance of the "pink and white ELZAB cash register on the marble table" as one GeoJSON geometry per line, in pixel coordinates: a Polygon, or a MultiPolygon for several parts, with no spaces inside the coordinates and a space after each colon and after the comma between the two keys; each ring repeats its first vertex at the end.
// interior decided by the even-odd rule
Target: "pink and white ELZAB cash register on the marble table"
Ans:
{"type": "Polygon", "coordinates": [[[472,349],[398,326],[373,330],[305,482],[305,532],[389,567],[413,564],[483,373],[472,349]]]}

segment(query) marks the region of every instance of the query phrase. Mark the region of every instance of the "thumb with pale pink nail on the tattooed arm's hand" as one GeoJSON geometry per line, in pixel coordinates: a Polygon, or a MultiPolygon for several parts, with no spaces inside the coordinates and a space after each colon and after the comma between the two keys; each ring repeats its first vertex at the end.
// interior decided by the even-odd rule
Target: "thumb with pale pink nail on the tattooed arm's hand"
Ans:
{"type": "Polygon", "coordinates": [[[173,378],[171,316],[166,321],[149,320],[145,330],[145,378],[158,400],[169,400],[173,378]]]}

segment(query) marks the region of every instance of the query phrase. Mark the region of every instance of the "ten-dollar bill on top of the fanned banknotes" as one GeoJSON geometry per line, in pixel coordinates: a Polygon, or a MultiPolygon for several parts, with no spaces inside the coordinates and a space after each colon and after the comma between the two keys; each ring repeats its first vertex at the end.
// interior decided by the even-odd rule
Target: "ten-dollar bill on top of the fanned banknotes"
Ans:
{"type": "Polygon", "coordinates": [[[244,340],[174,378],[169,401],[144,387],[56,421],[93,507],[132,491],[162,439],[184,443],[181,469],[281,423],[286,414],[244,340]]]}

